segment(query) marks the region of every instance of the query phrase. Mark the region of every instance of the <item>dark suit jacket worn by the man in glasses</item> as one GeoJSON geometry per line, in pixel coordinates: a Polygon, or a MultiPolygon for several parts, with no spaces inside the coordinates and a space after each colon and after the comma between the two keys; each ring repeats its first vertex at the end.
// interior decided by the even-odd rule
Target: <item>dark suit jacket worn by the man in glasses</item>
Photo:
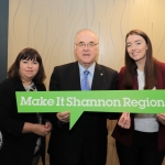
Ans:
{"type": "MultiPolygon", "coordinates": [[[[118,73],[96,64],[91,90],[113,90],[118,73]]],[[[57,66],[51,77],[50,90],[81,90],[78,63],[57,66]]],[[[107,155],[107,117],[99,112],[84,112],[74,128],[58,124],[52,116],[53,131],[48,154],[63,165],[77,165],[80,156],[89,165],[105,165],[107,155]]]]}

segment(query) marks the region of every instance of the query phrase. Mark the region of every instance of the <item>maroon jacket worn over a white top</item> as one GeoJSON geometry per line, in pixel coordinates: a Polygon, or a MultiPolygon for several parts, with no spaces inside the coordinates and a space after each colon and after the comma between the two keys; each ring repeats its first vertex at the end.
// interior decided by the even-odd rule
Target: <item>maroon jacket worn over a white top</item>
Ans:
{"type": "MultiPolygon", "coordinates": [[[[157,64],[157,81],[156,81],[156,89],[165,89],[165,64],[156,61],[157,64]]],[[[125,67],[122,67],[119,76],[118,76],[118,81],[119,81],[119,89],[125,90],[125,88],[122,85],[123,76],[124,76],[125,67]]],[[[138,85],[138,76],[134,77],[134,84],[133,84],[134,89],[139,89],[138,85]]],[[[133,140],[133,132],[134,132],[134,116],[131,114],[131,128],[129,130],[127,129],[121,129],[118,124],[114,128],[114,131],[112,133],[112,136],[121,142],[124,145],[130,146],[133,140]]],[[[160,130],[158,130],[158,150],[165,148],[165,125],[160,123],[160,130]]]]}

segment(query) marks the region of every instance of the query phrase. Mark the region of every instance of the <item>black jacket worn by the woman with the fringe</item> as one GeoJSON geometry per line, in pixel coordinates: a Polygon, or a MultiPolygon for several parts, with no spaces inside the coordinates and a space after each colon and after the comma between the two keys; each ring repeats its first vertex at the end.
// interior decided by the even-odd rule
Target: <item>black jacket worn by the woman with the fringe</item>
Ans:
{"type": "MultiPolygon", "coordinates": [[[[35,86],[37,90],[46,90],[43,84],[35,86]]],[[[0,131],[3,141],[0,148],[0,164],[31,165],[38,135],[22,133],[22,129],[24,122],[37,123],[37,117],[36,113],[18,113],[15,91],[25,91],[20,79],[8,78],[0,84],[0,131]]],[[[42,138],[45,154],[44,140],[42,138]]]]}

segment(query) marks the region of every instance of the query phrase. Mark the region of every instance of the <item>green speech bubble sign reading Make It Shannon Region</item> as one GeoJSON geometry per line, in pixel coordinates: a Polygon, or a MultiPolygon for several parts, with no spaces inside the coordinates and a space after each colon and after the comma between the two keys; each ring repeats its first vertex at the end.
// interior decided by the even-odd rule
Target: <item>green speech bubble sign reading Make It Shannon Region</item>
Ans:
{"type": "Polygon", "coordinates": [[[84,111],[165,113],[165,90],[18,91],[19,112],[70,111],[72,129],[84,111]]]}

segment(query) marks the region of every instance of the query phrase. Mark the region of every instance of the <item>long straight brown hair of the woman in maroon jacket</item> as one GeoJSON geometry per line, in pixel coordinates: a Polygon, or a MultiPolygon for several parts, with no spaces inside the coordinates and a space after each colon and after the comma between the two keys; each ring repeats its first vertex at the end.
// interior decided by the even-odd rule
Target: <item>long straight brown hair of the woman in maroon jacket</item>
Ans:
{"type": "MultiPolygon", "coordinates": [[[[145,75],[145,85],[144,89],[153,89],[153,87],[156,85],[156,77],[157,77],[157,69],[156,69],[156,62],[153,58],[153,48],[152,48],[152,43],[148,36],[140,31],[140,30],[132,30],[130,31],[127,36],[125,36],[125,42],[127,38],[130,35],[140,35],[144,38],[147,50],[146,50],[146,61],[145,61],[145,66],[144,66],[144,75],[145,75]]],[[[135,64],[135,61],[133,61],[127,50],[127,44],[125,44],[125,75],[123,78],[123,85],[125,89],[133,89],[133,79],[134,76],[136,76],[136,69],[138,66],[135,64]]]]}

